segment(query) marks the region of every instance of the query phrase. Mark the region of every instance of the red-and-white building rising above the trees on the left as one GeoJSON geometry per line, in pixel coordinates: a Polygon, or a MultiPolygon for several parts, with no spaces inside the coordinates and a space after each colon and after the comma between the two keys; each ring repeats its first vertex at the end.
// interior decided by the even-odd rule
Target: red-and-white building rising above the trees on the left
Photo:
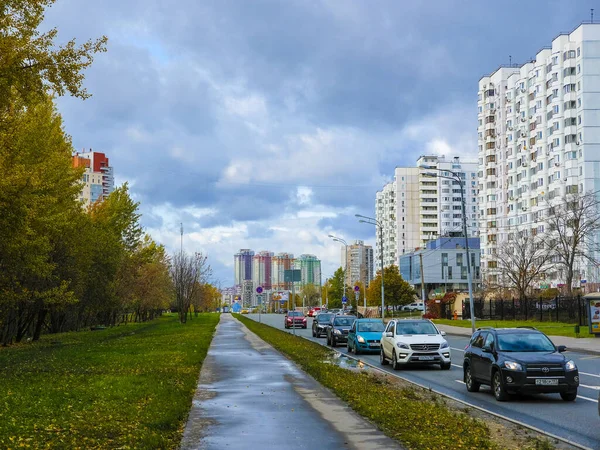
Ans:
{"type": "Polygon", "coordinates": [[[84,167],[83,189],[79,199],[85,206],[106,198],[115,188],[113,168],[104,153],[83,151],[75,153],[73,167],[84,167]]]}

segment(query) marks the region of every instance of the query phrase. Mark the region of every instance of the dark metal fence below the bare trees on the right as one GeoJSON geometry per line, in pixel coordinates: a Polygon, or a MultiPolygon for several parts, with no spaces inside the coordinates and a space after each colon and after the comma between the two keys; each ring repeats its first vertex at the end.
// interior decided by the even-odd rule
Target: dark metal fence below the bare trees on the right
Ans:
{"type": "MultiPolygon", "coordinates": [[[[446,306],[446,305],[444,305],[446,306]]],[[[475,317],[482,320],[536,320],[588,324],[588,308],[581,296],[556,297],[552,300],[530,298],[526,300],[474,300],[475,317]]],[[[446,317],[449,311],[442,311],[446,317]]],[[[471,318],[469,302],[463,302],[462,316],[471,318]]]]}

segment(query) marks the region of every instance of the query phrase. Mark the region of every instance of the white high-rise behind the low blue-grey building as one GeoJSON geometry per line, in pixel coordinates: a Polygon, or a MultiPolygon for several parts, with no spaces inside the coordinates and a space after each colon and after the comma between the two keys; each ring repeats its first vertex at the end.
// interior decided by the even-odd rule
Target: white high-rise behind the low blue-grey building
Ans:
{"type": "MultiPolygon", "coordinates": [[[[376,194],[376,218],[383,225],[383,264],[424,247],[440,236],[462,236],[461,188],[467,213],[467,234],[478,236],[477,162],[421,156],[416,167],[396,167],[394,181],[376,194]],[[446,177],[457,173],[461,182],[446,177]],[[462,184],[462,187],[461,187],[462,184]]],[[[380,261],[377,232],[375,264],[380,261]]]]}

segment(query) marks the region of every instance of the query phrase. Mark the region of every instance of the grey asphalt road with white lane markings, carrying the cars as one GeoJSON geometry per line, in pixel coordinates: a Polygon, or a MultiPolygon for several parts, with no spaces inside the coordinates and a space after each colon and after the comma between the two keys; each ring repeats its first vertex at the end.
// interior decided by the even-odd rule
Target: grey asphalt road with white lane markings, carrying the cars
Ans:
{"type": "MultiPolygon", "coordinates": [[[[258,314],[248,317],[258,321],[258,314]]],[[[282,314],[262,314],[261,321],[281,330],[284,329],[282,314]]],[[[312,318],[308,318],[306,330],[296,328],[285,330],[326,345],[325,338],[312,337],[312,318]]],[[[575,352],[566,354],[579,368],[580,387],[578,398],[574,402],[563,401],[558,394],[518,396],[509,402],[497,402],[487,387],[478,393],[467,392],[463,383],[463,350],[467,337],[446,336],[451,348],[452,368],[440,370],[439,366],[406,368],[393,371],[390,366],[380,366],[379,355],[360,355],[365,362],[376,365],[406,380],[430,387],[450,397],[483,408],[487,411],[517,420],[530,427],[537,428],[568,440],[571,443],[589,449],[600,449],[600,417],[598,416],[598,390],[600,390],[600,355],[587,355],[575,352]]],[[[346,346],[338,351],[346,352],[346,346]]]]}

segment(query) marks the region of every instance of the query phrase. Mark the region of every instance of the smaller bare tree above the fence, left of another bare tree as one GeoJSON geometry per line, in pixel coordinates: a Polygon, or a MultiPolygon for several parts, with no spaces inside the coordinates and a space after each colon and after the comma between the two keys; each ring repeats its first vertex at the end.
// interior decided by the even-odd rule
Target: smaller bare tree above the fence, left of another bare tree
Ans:
{"type": "Polygon", "coordinates": [[[516,291],[519,299],[525,299],[533,282],[540,279],[548,269],[551,253],[544,245],[544,236],[529,230],[509,231],[509,240],[496,254],[501,278],[516,291]]]}

